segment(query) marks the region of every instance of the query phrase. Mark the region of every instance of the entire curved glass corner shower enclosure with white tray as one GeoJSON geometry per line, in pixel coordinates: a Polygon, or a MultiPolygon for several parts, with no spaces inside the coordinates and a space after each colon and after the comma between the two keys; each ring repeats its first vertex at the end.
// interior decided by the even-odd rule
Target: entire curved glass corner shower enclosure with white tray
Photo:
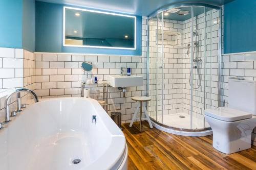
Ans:
{"type": "Polygon", "coordinates": [[[210,131],[204,109],[220,105],[220,16],[219,7],[176,5],[148,18],[148,113],[156,127],[210,131]]]}

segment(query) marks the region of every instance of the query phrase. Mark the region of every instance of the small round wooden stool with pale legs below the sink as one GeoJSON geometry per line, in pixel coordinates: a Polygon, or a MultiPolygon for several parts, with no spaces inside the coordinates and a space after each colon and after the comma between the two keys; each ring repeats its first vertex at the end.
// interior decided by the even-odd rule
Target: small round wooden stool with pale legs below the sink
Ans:
{"type": "MultiPolygon", "coordinates": [[[[147,101],[151,101],[151,98],[147,97],[147,96],[135,96],[135,97],[132,97],[132,100],[133,101],[137,101],[139,103],[138,103],[137,108],[135,110],[135,113],[133,115],[132,121],[130,123],[130,127],[133,126],[133,122],[136,119],[137,113],[138,113],[139,108],[140,108],[140,131],[141,131],[141,126],[142,126],[142,103],[143,102],[147,102],[147,101]]],[[[145,105],[143,105],[143,109],[144,109],[144,113],[145,113],[145,116],[146,116],[146,118],[143,118],[143,119],[147,120],[148,124],[150,124],[150,128],[153,128],[153,126],[151,124],[150,117],[147,115],[147,111],[146,111],[146,106],[145,105]]]]}

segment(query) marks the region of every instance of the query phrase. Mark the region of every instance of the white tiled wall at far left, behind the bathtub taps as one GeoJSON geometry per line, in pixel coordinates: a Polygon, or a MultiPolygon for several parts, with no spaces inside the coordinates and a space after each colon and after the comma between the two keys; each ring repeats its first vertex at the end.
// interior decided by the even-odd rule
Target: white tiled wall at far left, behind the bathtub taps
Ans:
{"type": "MultiPolygon", "coordinates": [[[[0,47],[0,89],[14,90],[16,88],[35,89],[35,57],[34,54],[19,48],[0,47]]],[[[0,92],[1,93],[1,92],[0,92]]],[[[0,121],[4,120],[5,96],[0,99],[0,121]]],[[[21,93],[22,103],[30,99],[30,95],[21,93]]],[[[16,95],[11,98],[10,111],[16,109],[16,95]]]]}

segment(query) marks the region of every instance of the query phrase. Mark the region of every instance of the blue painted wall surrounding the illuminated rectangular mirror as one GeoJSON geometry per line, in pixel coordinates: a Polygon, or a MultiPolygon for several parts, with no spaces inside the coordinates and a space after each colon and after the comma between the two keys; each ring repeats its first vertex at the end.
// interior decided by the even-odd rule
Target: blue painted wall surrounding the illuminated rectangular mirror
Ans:
{"type": "Polygon", "coordinates": [[[136,50],[68,47],[62,45],[63,5],[36,1],[35,8],[36,52],[141,55],[141,16],[137,16],[136,50]]]}

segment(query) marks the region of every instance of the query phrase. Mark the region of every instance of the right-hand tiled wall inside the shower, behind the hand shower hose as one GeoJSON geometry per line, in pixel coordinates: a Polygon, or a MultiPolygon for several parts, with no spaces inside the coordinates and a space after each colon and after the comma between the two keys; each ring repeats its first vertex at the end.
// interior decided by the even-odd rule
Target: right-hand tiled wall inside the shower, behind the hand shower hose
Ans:
{"type": "MultiPolygon", "coordinates": [[[[183,40],[183,100],[184,111],[190,110],[190,61],[191,48],[187,55],[187,43],[191,41],[191,19],[184,21],[184,40],[183,40]]],[[[193,113],[203,118],[204,109],[210,107],[218,107],[218,33],[219,33],[219,11],[209,10],[205,14],[200,14],[194,18],[193,30],[197,30],[197,41],[199,47],[194,45],[198,53],[194,53],[194,58],[197,56],[200,61],[198,64],[193,63],[193,66],[199,67],[193,69],[193,113]],[[195,29],[196,26],[196,29],[195,29]],[[201,78],[201,84],[199,80],[201,78]],[[204,81],[205,80],[205,81],[204,81]]],[[[196,36],[194,36],[196,42],[196,36]]],[[[190,42],[189,42],[190,43],[190,42]]],[[[191,44],[190,44],[191,46],[191,44]]]]}

